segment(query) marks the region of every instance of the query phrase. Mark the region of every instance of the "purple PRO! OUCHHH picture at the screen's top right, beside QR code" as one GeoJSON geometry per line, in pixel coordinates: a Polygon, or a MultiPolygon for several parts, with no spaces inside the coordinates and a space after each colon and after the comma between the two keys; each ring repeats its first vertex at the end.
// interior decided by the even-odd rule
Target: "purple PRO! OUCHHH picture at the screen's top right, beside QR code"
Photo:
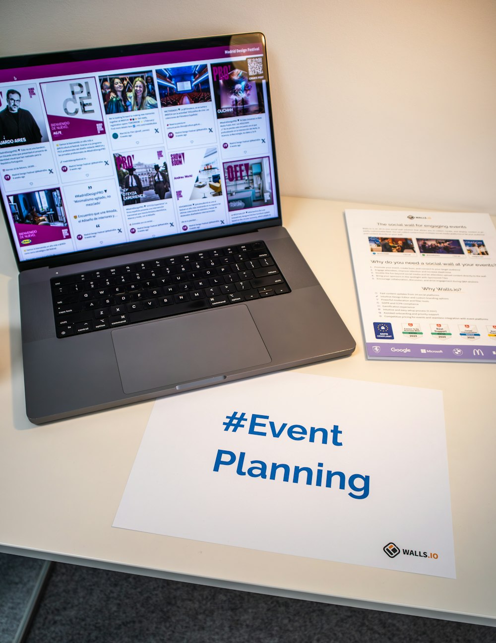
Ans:
{"type": "Polygon", "coordinates": [[[211,64],[215,111],[219,120],[265,113],[263,66],[259,57],[211,64]],[[261,73],[254,73],[256,71],[261,73]]]}

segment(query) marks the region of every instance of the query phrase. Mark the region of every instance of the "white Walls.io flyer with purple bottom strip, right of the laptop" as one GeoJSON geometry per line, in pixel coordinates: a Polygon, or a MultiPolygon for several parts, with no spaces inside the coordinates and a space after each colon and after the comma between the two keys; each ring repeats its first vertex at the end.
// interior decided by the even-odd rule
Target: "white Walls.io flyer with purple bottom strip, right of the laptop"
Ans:
{"type": "Polygon", "coordinates": [[[369,359],[496,362],[488,214],[346,210],[369,359]]]}

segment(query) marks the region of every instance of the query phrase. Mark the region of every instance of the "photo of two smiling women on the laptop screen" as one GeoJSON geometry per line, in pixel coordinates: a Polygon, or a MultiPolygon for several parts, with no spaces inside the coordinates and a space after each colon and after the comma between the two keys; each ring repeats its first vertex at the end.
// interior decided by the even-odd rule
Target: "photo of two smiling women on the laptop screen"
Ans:
{"type": "Polygon", "coordinates": [[[98,82],[107,116],[158,108],[152,69],[105,74],[98,82]]]}

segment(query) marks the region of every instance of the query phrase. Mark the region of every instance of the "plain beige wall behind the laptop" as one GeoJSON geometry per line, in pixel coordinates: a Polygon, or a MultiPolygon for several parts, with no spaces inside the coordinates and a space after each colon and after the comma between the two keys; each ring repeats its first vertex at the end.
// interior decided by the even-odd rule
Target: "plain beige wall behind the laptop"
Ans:
{"type": "Polygon", "coordinates": [[[0,55],[267,36],[281,193],[496,213],[496,0],[3,0],[0,55]]]}

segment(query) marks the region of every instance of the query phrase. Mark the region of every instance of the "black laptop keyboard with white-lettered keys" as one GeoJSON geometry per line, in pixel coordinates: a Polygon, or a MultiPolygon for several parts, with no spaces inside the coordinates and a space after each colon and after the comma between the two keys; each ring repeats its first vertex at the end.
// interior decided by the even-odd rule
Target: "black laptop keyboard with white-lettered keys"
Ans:
{"type": "Polygon", "coordinates": [[[50,280],[57,337],[290,292],[263,241],[50,280]]]}

